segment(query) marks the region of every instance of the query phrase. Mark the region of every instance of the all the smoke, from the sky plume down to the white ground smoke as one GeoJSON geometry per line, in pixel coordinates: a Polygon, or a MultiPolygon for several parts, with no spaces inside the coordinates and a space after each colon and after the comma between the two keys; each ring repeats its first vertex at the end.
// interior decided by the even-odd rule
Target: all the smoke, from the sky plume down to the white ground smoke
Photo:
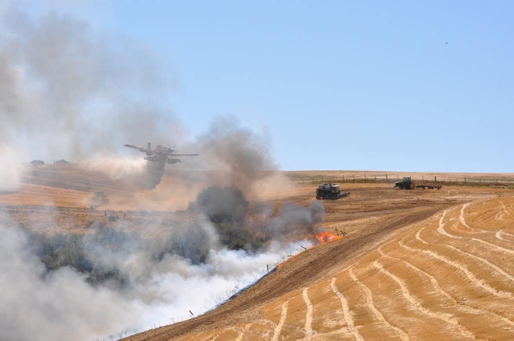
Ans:
{"type": "MultiPolygon", "coordinates": [[[[188,138],[172,111],[162,105],[171,84],[134,42],[106,39],[86,23],[58,14],[30,17],[9,12],[3,23],[0,177],[9,180],[0,182],[0,191],[19,189],[23,152],[46,161],[81,161],[117,179],[139,174],[144,155],[127,149],[125,155],[136,153],[137,158],[104,156],[99,161],[95,154],[116,153],[125,143],[148,141],[182,145],[179,153],[200,153],[172,166],[208,169],[192,184],[200,187],[229,186],[251,194],[253,186],[276,169],[269,136],[242,127],[232,116],[218,117],[205,134],[188,138]]],[[[161,176],[159,169],[152,171],[158,179],[151,178],[150,185],[161,176]]],[[[185,200],[174,193],[159,199],[185,200]]],[[[243,228],[263,228],[279,236],[291,232],[293,224],[310,226],[299,230],[303,233],[319,222],[321,210],[315,204],[308,208],[291,204],[275,217],[269,207],[259,211],[265,214],[262,225],[257,225],[253,206],[238,200],[224,207],[238,217],[228,230],[199,215],[174,229],[164,220],[145,226],[154,239],[85,226],[84,236],[59,240],[48,236],[49,240],[34,244],[27,231],[37,222],[25,221],[22,229],[8,215],[0,216],[3,338],[91,340],[109,334],[118,338],[119,331],[132,333],[187,318],[190,309],[201,313],[231,295],[234,287],[255,281],[266,264],[300,249],[296,243],[268,241],[248,252],[243,238],[230,250],[227,235],[237,232],[245,237],[240,233],[243,228]],[[238,209],[241,205],[244,212],[238,209]],[[163,225],[171,232],[163,232],[163,225]]],[[[62,230],[51,215],[41,220],[52,232],[62,230]]],[[[115,222],[109,228],[125,227],[115,222]]]]}

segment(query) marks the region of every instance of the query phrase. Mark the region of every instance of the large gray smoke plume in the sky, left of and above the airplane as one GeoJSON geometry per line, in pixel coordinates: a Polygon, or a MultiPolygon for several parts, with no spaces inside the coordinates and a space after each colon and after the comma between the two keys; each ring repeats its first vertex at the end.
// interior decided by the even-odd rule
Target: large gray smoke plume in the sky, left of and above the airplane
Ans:
{"type": "Polygon", "coordinates": [[[143,47],[69,17],[9,12],[0,32],[0,143],[82,160],[183,131],[155,98],[171,84],[143,47]],[[27,141],[27,142],[24,142],[27,141]]]}

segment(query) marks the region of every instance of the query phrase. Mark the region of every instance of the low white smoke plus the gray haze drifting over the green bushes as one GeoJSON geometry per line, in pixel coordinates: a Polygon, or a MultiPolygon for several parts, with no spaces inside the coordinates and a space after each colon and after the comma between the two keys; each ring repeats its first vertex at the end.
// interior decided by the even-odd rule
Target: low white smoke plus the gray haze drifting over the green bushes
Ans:
{"type": "MultiPolygon", "coordinates": [[[[90,231],[76,243],[59,244],[57,256],[44,259],[48,241],[0,216],[0,327],[9,340],[115,339],[200,314],[265,273],[266,264],[282,261],[299,244],[272,242],[258,253],[228,250],[208,222],[182,226],[187,236],[142,242],[133,234],[90,231]],[[200,233],[199,233],[200,232],[200,233]],[[187,240],[186,240],[187,239],[187,240]],[[183,250],[164,252],[180,240],[183,250]],[[39,241],[36,243],[36,241],[39,241]],[[187,252],[208,247],[198,261],[187,252]],[[49,269],[49,261],[84,257],[83,268],[72,264],[49,269]],[[44,262],[43,262],[44,261],[44,262]],[[123,281],[92,285],[86,269],[93,266],[123,281]]],[[[47,237],[53,238],[56,237],[47,237]]],[[[308,247],[310,243],[303,241],[308,247]]]]}

